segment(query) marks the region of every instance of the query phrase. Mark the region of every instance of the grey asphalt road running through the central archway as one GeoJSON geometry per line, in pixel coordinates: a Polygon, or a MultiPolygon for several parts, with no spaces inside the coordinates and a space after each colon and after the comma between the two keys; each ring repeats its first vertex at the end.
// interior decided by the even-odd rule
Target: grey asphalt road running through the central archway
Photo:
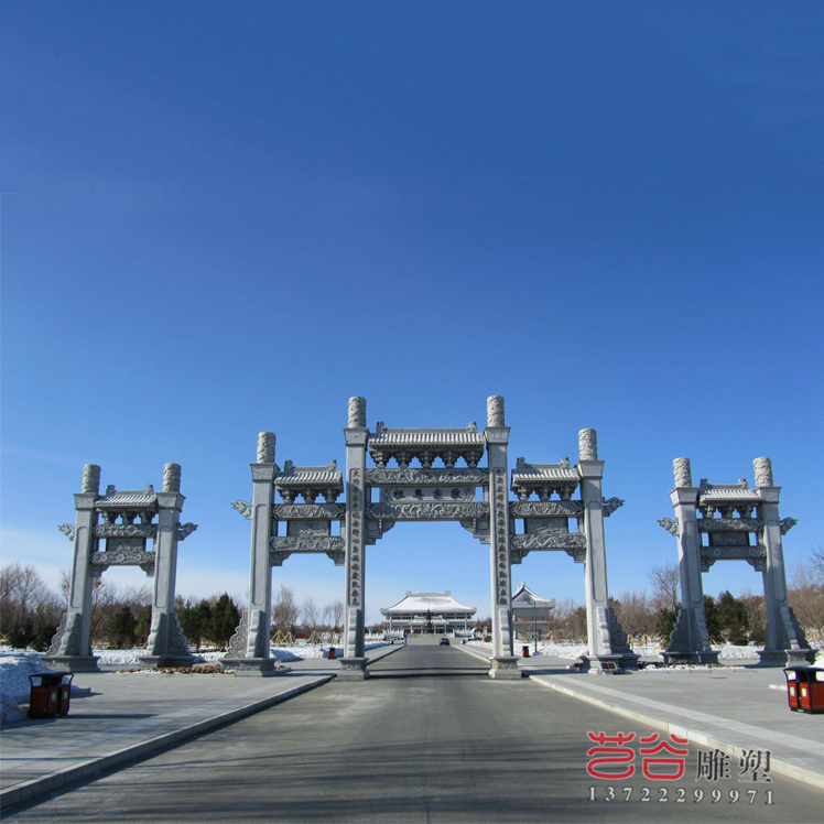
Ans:
{"type": "Polygon", "coordinates": [[[3,817],[123,824],[824,821],[824,792],[779,776],[771,783],[739,783],[735,759],[730,778],[697,780],[692,746],[683,778],[644,778],[638,748],[655,742],[638,738],[657,730],[527,679],[489,679],[485,662],[459,649],[405,647],[372,673],[365,682],[332,682],[3,817]],[[586,753],[596,745],[588,731],[635,733],[636,774],[589,777],[586,753]]]}

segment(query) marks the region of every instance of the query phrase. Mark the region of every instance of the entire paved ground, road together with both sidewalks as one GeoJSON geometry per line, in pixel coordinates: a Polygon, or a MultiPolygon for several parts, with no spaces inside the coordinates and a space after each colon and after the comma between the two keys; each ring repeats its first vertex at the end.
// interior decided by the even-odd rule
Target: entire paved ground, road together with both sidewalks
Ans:
{"type": "MultiPolygon", "coordinates": [[[[154,755],[46,791],[3,817],[821,821],[824,787],[809,782],[824,785],[824,717],[790,713],[784,692],[770,689],[783,681],[780,670],[609,677],[572,673],[547,658],[521,660],[531,677],[501,682],[487,676],[483,652],[465,647],[419,643],[372,655],[366,681],[327,681],[336,662],[325,660],[262,680],[79,675],[93,694],[76,700],[68,717],[3,731],[4,788],[39,769],[45,776],[95,752],[133,746],[141,728],[148,742],[175,725],[183,729],[241,705],[274,702],[286,690],[305,692],[235,723],[217,722],[181,744],[159,744],[154,755]],[[596,746],[587,733],[669,740],[668,734],[685,730],[691,742],[676,781],[649,780],[640,763],[632,777],[614,782],[587,774],[587,750],[596,746]],[[56,746],[55,735],[62,736],[56,746]],[[728,759],[729,778],[698,779],[698,755],[716,741],[770,750],[771,782],[739,782],[736,757],[728,759]],[[794,763],[807,783],[782,774],[779,762],[794,763]]],[[[637,752],[643,745],[633,746],[637,752]]]]}

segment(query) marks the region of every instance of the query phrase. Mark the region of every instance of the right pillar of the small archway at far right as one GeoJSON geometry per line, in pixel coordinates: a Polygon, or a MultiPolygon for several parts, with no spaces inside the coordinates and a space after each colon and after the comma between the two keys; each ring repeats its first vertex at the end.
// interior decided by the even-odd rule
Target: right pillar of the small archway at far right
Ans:
{"type": "Polygon", "coordinates": [[[758,654],[761,664],[766,666],[812,663],[815,660],[815,651],[810,649],[787,596],[784,552],[778,512],[781,487],[772,484],[772,464],[769,458],[756,458],[753,467],[756,486],[761,497],[758,507],[758,518],[763,524],[760,538],[767,550],[763,572],[767,644],[758,654]]]}

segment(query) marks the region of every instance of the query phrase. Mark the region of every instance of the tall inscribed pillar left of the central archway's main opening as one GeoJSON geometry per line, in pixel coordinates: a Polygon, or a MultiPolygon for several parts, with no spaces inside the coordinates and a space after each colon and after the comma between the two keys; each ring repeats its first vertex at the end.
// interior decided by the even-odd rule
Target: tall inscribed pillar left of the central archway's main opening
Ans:
{"type": "Polygon", "coordinates": [[[349,425],[346,437],[346,638],[338,677],[365,679],[366,552],[366,451],[369,430],[366,425],[366,399],[349,399],[349,425]]]}

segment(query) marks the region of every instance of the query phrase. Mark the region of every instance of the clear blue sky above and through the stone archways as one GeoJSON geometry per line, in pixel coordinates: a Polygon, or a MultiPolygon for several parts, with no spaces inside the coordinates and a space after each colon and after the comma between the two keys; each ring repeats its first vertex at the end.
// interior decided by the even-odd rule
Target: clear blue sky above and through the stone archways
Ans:
{"type": "MultiPolygon", "coordinates": [[[[257,433],[341,464],[368,422],[485,422],[512,464],[598,430],[610,592],[676,560],[672,459],[773,459],[822,543],[820,3],[20,2],[0,10],[3,561],[69,564],[83,465],[183,465],[178,589],[243,595],[257,433]]],[[[406,589],[489,611],[488,550],[400,524],[406,589]]],[[[343,596],[325,556],[275,583],[343,596]]],[[[109,574],[109,573],[107,573],[109,574]]],[[[141,583],[137,570],[112,573],[141,583]]],[[[583,599],[583,566],[517,582],[583,599]]],[[[746,564],[705,588],[761,592],[746,564]]]]}

